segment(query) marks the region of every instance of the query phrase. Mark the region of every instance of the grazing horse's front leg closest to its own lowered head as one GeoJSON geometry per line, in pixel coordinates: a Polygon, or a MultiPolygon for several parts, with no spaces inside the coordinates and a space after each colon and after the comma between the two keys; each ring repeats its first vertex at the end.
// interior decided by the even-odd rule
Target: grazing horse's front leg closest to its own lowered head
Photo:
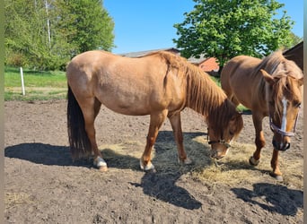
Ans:
{"type": "Polygon", "coordinates": [[[171,128],[174,134],[175,142],[178,150],[178,161],[183,164],[190,164],[192,161],[187,157],[186,151],[183,147],[183,134],[181,129],[180,113],[169,116],[171,128]]]}

